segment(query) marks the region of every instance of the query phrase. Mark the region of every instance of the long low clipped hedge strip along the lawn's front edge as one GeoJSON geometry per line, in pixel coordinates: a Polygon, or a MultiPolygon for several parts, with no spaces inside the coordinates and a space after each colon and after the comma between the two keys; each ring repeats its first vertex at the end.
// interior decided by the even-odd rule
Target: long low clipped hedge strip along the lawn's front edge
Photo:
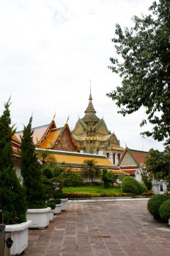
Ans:
{"type": "Polygon", "coordinates": [[[67,198],[132,197],[133,193],[65,193],[67,198]]]}

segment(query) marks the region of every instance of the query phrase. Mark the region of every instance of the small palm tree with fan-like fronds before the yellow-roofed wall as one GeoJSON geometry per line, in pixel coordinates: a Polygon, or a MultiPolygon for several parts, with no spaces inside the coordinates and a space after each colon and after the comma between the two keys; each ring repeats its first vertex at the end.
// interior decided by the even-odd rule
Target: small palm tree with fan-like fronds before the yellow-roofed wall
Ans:
{"type": "Polygon", "coordinates": [[[93,183],[95,177],[98,177],[100,174],[99,168],[96,166],[97,161],[94,159],[91,160],[85,160],[84,166],[82,168],[83,175],[87,178],[89,178],[89,181],[93,183]]]}

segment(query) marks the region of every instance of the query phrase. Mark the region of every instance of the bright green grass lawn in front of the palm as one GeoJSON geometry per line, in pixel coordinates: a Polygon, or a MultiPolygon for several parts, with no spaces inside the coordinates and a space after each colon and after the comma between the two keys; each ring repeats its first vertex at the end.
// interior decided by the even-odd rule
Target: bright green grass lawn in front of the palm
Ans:
{"type": "Polygon", "coordinates": [[[88,194],[99,194],[99,193],[122,193],[121,188],[110,187],[104,189],[102,185],[91,185],[82,187],[65,187],[62,189],[64,193],[88,193],[88,194]]]}

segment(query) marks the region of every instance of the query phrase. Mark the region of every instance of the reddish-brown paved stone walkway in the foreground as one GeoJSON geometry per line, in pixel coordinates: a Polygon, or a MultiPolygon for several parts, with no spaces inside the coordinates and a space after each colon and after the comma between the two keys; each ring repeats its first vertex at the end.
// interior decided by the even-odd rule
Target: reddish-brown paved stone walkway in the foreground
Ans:
{"type": "Polygon", "coordinates": [[[69,201],[44,230],[30,230],[22,254],[46,256],[168,256],[170,228],[146,210],[147,200],[69,201]]]}

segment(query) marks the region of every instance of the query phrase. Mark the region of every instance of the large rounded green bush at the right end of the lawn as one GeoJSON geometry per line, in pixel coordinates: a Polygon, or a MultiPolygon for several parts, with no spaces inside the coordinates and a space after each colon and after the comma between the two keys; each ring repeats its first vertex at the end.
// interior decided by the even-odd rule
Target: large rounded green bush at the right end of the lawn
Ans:
{"type": "Polygon", "coordinates": [[[134,193],[140,195],[146,191],[146,187],[131,177],[126,177],[122,181],[122,190],[124,193],[134,193]]]}

